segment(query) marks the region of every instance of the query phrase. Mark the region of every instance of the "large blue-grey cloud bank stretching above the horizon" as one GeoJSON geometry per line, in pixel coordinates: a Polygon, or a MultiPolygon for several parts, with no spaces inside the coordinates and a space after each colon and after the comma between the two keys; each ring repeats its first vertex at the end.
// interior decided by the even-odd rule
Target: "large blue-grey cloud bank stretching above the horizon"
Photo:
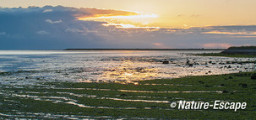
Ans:
{"type": "Polygon", "coordinates": [[[96,8],[0,8],[0,50],[67,48],[223,48],[256,44],[256,26],[122,29],[77,17],[136,13],[96,8]]]}

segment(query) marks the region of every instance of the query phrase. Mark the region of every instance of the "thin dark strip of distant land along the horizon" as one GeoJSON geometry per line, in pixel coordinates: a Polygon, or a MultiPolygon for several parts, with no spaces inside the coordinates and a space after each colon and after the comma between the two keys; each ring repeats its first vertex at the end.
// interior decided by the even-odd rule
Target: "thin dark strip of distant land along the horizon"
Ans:
{"type": "Polygon", "coordinates": [[[226,50],[226,49],[66,49],[66,50],[226,50]]]}

